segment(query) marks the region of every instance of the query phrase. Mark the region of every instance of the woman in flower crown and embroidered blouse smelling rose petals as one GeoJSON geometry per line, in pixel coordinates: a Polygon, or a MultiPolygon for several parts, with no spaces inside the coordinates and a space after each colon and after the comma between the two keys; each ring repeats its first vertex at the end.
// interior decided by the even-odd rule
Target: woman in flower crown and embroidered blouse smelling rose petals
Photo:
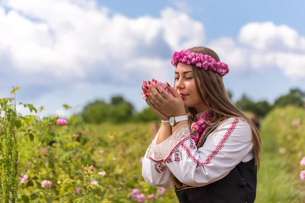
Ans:
{"type": "Polygon", "coordinates": [[[174,87],[166,83],[172,95],[156,80],[143,88],[162,120],[144,156],[145,181],[174,187],[179,202],[254,202],[261,138],[230,102],[222,80],[228,66],[205,47],[172,58],[174,87]]]}

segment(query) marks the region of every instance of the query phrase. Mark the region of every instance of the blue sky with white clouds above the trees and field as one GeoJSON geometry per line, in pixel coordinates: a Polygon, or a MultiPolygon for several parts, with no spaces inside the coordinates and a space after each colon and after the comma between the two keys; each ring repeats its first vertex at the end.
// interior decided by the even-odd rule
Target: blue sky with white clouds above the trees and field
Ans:
{"type": "MultiPolygon", "coordinates": [[[[174,51],[213,49],[233,100],[270,103],[305,89],[305,1],[0,0],[0,98],[67,116],[123,95],[140,111],[142,80],[173,84],[174,51]]],[[[18,111],[28,111],[18,106],[18,111]]]]}

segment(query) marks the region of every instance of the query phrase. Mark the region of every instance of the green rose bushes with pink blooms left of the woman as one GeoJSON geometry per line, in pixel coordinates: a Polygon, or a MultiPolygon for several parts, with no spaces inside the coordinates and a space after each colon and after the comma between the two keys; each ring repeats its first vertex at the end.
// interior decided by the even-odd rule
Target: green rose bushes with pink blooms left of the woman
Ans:
{"type": "Polygon", "coordinates": [[[103,134],[76,117],[41,118],[43,107],[19,104],[32,113],[17,114],[15,98],[0,99],[0,202],[175,202],[141,176],[147,130],[103,134]]]}

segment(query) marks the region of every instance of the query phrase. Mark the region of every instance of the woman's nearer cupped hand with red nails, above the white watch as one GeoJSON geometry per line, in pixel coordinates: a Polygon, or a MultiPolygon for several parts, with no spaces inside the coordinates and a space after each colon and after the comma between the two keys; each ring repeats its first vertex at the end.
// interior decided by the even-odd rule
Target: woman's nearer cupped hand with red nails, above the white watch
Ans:
{"type": "Polygon", "coordinates": [[[153,82],[148,81],[148,102],[152,104],[159,112],[166,115],[167,117],[170,116],[182,116],[186,114],[184,103],[180,94],[168,83],[166,83],[167,89],[172,93],[171,96],[169,93],[162,88],[160,83],[156,80],[153,82]],[[159,90],[156,89],[153,82],[156,83],[156,86],[159,90]]]}

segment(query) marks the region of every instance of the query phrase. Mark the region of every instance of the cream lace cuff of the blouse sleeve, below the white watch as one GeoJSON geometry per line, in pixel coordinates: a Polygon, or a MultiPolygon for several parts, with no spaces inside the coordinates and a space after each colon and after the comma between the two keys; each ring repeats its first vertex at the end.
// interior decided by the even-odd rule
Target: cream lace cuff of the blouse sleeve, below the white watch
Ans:
{"type": "Polygon", "coordinates": [[[151,150],[149,156],[155,160],[164,160],[170,151],[183,139],[190,136],[189,125],[180,126],[169,138],[160,144],[156,144],[159,136],[157,133],[156,138],[151,142],[151,150]]]}

